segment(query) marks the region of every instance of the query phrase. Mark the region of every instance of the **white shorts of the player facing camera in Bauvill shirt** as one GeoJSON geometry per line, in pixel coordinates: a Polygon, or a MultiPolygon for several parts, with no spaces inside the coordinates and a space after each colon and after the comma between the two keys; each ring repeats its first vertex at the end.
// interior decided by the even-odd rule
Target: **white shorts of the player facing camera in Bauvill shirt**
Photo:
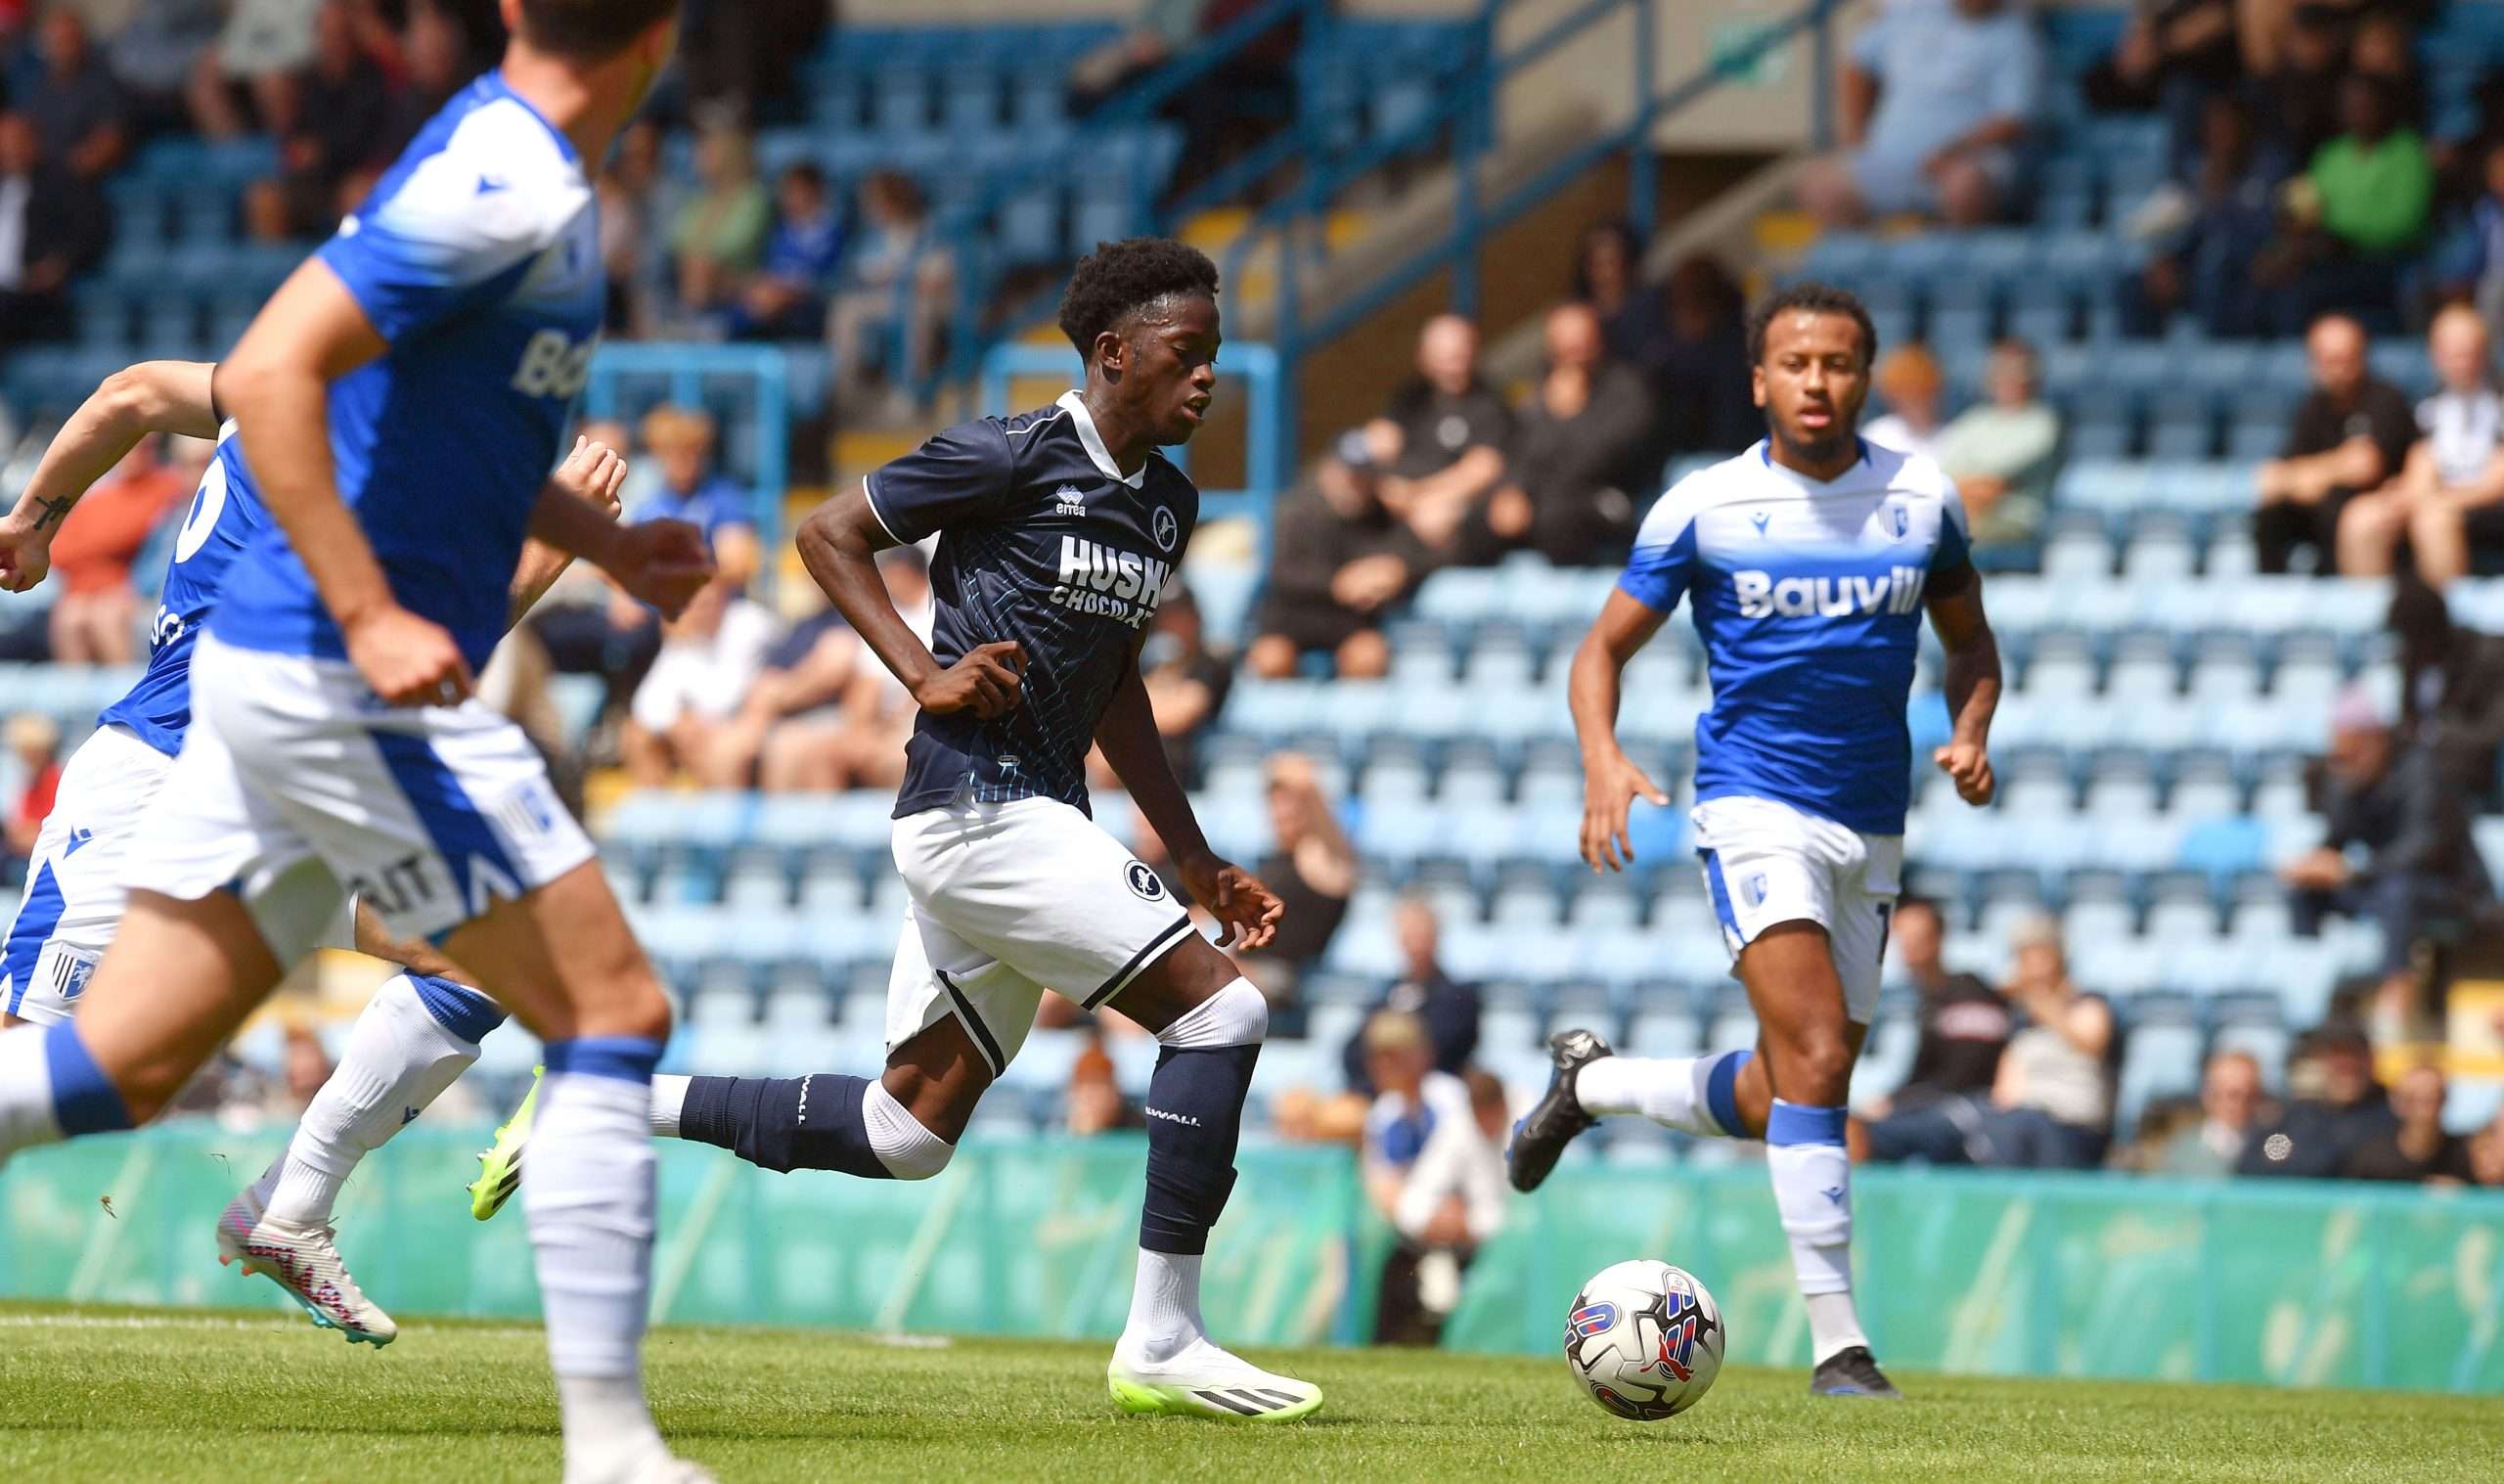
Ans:
{"type": "Polygon", "coordinates": [[[1903,836],[1865,836],[1770,798],[1708,798],[1690,818],[1730,958],[1775,923],[1813,921],[1835,956],[1843,1014],[1865,1026],[1903,891],[1903,836]]]}

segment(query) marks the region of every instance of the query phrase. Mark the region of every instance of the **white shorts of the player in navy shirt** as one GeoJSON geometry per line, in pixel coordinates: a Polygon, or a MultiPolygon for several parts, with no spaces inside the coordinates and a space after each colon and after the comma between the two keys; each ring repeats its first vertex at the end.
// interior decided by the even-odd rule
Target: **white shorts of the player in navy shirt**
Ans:
{"type": "Polygon", "coordinates": [[[1192,936],[1192,916],[1122,841],[1059,798],[969,791],[894,826],[911,901],[886,981],[886,1046],[957,1016],[1007,1071],[1057,988],[1087,1009],[1192,936]]]}

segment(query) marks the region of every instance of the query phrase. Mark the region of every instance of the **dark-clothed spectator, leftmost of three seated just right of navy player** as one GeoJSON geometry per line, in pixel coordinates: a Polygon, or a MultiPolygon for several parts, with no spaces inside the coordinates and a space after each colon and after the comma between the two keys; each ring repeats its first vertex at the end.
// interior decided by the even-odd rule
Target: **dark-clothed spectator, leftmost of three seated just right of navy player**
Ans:
{"type": "Polygon", "coordinates": [[[1390,673],[1382,621],[1435,558],[1382,506],[1380,453],[1390,440],[1375,433],[1340,438],[1277,503],[1257,638],[1244,651],[1244,666],[1265,681],[1285,681],[1307,653],[1330,656],[1342,681],[1390,673]]]}

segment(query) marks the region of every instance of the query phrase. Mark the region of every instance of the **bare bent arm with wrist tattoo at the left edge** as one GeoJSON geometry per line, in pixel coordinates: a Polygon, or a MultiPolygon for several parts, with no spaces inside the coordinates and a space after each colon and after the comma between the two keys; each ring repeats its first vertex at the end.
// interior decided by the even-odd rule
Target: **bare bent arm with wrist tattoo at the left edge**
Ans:
{"type": "Polygon", "coordinates": [[[88,485],[150,433],[218,435],[208,363],[143,360],[115,370],[43,450],[18,508],[0,516],[0,588],[23,593],[53,571],[53,538],[88,485]]]}

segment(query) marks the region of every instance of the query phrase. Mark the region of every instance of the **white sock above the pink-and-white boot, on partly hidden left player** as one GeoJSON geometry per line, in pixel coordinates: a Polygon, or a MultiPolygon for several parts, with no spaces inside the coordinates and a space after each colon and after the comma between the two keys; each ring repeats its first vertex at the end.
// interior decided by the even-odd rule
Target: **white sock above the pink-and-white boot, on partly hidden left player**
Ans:
{"type": "Polygon", "coordinates": [[[348,1051],[295,1124],[288,1151],[255,1186],[268,1214],[295,1226],[328,1226],[338,1189],[358,1161],[408,1126],[478,1061],[478,1044],[438,1021],[406,973],[366,1001],[348,1051]]]}

